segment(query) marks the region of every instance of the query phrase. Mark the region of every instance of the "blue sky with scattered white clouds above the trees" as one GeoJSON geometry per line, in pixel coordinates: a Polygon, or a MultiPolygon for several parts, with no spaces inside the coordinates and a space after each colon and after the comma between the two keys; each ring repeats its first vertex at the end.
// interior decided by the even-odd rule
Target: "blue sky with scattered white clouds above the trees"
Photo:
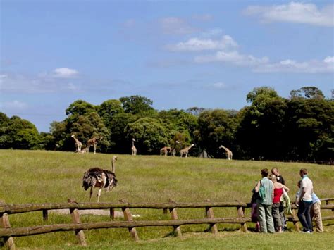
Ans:
{"type": "Polygon", "coordinates": [[[254,87],[334,89],[333,1],[0,4],[0,111],[39,132],[78,99],[240,110],[254,87]]]}

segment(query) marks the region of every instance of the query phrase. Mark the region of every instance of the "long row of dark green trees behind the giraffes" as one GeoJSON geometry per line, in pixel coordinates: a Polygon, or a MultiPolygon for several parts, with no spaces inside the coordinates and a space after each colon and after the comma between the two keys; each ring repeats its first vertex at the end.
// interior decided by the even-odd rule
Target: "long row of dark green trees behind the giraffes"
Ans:
{"type": "Polygon", "coordinates": [[[71,135],[82,144],[101,137],[98,151],[130,154],[132,138],[138,154],[159,154],[163,146],[178,152],[195,144],[190,155],[202,151],[225,158],[223,144],[233,158],[274,161],[329,161],[334,153],[334,100],[316,87],[292,90],[285,99],[271,87],[256,87],[240,111],[191,107],[156,111],[144,96],[110,99],[101,105],[77,100],[66,119],[54,121],[50,132],[0,113],[0,149],[75,151],[71,135]],[[178,141],[179,143],[176,143],[178,141]]]}

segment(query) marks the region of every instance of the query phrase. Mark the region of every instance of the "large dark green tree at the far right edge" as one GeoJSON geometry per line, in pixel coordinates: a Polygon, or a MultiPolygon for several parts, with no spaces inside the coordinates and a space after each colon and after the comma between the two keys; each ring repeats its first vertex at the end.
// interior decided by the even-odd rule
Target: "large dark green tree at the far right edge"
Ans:
{"type": "Polygon", "coordinates": [[[287,106],[288,157],[296,161],[330,161],[334,153],[334,101],[292,98],[287,106]]]}

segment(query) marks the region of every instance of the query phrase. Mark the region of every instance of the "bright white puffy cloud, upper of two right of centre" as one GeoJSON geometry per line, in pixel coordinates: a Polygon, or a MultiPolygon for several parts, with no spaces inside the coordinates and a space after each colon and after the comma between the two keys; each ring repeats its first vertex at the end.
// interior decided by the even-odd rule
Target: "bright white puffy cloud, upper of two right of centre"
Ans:
{"type": "Polygon", "coordinates": [[[203,51],[219,50],[237,47],[237,43],[232,37],[224,35],[220,40],[199,39],[197,37],[189,39],[187,42],[169,45],[167,49],[171,51],[203,51]]]}

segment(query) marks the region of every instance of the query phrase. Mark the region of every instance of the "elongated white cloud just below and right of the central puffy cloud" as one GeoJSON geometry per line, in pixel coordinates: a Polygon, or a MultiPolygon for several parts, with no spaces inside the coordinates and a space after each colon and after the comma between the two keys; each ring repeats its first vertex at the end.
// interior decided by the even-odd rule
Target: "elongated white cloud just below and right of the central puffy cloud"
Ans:
{"type": "Polygon", "coordinates": [[[268,63],[268,58],[256,58],[252,55],[243,55],[238,51],[217,51],[214,55],[196,56],[196,63],[223,62],[240,66],[256,66],[268,63]]]}

